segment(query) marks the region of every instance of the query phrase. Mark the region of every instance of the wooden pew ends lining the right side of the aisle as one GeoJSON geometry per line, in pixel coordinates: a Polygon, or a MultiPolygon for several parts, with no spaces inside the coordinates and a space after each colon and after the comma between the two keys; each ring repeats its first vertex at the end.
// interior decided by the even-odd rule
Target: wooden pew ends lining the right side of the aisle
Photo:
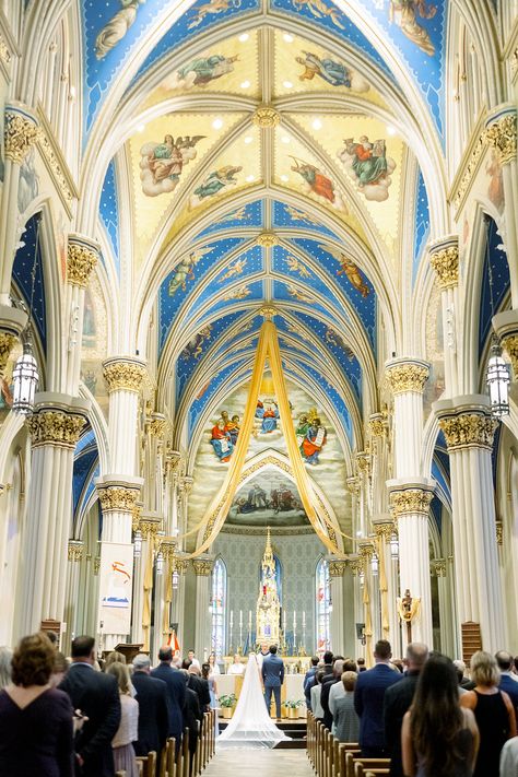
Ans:
{"type": "Polygon", "coordinates": [[[309,710],[306,747],[317,777],[377,777],[390,773],[390,758],[362,758],[357,742],[340,742],[309,710]]]}

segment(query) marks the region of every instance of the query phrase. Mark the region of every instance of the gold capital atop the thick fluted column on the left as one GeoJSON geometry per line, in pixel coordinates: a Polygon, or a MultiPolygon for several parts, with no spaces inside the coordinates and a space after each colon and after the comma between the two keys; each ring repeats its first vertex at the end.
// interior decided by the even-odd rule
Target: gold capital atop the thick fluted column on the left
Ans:
{"type": "Polygon", "coordinates": [[[35,411],[25,421],[33,448],[43,445],[75,448],[86,423],[89,409],[90,402],[79,397],[37,393],[35,411]]]}

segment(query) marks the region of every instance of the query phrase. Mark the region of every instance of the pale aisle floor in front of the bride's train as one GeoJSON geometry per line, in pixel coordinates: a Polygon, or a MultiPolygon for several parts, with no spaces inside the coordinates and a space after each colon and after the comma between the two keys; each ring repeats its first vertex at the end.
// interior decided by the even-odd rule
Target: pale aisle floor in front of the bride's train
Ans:
{"type": "Polygon", "coordinates": [[[315,777],[305,750],[226,750],[215,754],[203,777],[315,777]]]}

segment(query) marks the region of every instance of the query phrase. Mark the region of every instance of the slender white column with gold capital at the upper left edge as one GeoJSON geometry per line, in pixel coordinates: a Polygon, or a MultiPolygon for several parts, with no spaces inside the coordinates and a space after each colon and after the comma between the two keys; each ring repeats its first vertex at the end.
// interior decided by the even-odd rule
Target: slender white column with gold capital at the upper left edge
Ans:
{"type": "Polygon", "coordinates": [[[11,275],[20,238],[17,190],[20,168],[39,139],[34,114],[22,103],[10,103],[4,114],[4,173],[0,203],[0,305],[10,306],[11,275]]]}

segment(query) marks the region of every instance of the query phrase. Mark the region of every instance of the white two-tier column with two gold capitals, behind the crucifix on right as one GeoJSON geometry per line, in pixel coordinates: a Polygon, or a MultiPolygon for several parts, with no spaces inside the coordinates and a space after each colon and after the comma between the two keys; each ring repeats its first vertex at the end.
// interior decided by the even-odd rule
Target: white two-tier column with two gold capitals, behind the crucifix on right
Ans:
{"type": "MultiPolygon", "coordinates": [[[[423,389],[428,365],[417,358],[386,364],[393,393],[395,480],[387,485],[399,534],[400,596],[410,590],[420,600],[412,623],[412,639],[433,647],[432,592],[429,586],[428,508],[433,485],[421,476],[423,452],[423,389]]],[[[407,629],[403,629],[403,648],[407,629]]]]}

